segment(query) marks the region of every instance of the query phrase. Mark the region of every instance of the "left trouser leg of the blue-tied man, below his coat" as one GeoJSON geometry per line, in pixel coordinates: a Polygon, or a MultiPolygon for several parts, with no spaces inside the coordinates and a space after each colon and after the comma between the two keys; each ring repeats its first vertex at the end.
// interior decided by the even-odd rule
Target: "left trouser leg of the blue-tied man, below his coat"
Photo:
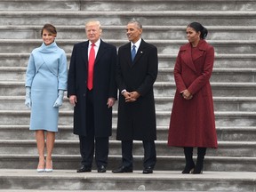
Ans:
{"type": "Polygon", "coordinates": [[[133,164],[132,140],[122,140],[122,161],[124,167],[131,167],[133,164]]]}

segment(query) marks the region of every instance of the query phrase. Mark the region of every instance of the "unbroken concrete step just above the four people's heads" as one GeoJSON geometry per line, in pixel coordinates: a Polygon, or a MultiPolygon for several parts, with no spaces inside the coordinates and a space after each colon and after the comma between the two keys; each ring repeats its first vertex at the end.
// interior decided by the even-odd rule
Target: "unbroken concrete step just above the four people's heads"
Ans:
{"type": "Polygon", "coordinates": [[[253,11],[4,11],[0,12],[0,25],[43,25],[45,22],[55,25],[82,25],[84,18],[97,18],[104,25],[120,26],[131,18],[140,20],[143,25],[187,26],[191,20],[209,26],[255,26],[256,12],[253,11]],[[221,20],[221,22],[220,22],[221,20]]]}

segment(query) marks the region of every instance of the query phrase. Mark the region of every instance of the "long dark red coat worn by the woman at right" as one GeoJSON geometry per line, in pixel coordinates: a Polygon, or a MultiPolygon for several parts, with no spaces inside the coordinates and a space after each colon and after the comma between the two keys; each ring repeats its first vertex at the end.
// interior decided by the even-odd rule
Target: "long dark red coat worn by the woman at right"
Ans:
{"type": "Polygon", "coordinates": [[[168,145],[176,147],[217,148],[217,135],[210,77],[214,61],[212,45],[200,40],[199,51],[192,60],[191,44],[180,47],[174,78],[176,93],[173,100],[168,145]],[[193,94],[185,100],[180,92],[188,89],[193,94]]]}

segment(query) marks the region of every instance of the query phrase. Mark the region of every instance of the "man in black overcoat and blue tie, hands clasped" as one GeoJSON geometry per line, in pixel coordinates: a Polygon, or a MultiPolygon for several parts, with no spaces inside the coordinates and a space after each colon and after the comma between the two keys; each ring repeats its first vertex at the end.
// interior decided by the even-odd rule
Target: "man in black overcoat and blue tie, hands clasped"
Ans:
{"type": "Polygon", "coordinates": [[[116,71],[119,89],[116,140],[122,141],[122,165],[113,172],[132,172],[132,140],[142,140],[143,173],[152,173],[156,164],[153,84],[158,70],[157,49],[141,39],[140,22],[130,21],[126,31],[130,43],[119,48],[116,71]]]}

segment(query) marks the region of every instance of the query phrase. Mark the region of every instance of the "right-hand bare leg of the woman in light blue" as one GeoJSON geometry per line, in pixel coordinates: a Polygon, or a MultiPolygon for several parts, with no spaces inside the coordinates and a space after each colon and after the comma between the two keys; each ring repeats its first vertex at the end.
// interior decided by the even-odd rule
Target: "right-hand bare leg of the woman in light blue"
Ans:
{"type": "Polygon", "coordinates": [[[55,141],[55,132],[47,132],[46,133],[46,166],[45,169],[52,169],[52,150],[55,141]]]}

